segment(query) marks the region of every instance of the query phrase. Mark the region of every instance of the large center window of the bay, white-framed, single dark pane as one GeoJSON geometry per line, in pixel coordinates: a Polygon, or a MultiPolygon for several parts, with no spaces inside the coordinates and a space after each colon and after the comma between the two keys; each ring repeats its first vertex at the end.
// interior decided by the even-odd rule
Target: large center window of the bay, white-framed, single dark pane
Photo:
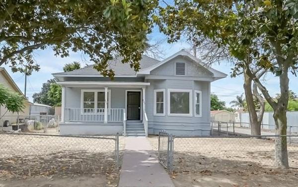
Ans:
{"type": "Polygon", "coordinates": [[[192,90],[168,89],[168,115],[192,116],[192,90]]]}

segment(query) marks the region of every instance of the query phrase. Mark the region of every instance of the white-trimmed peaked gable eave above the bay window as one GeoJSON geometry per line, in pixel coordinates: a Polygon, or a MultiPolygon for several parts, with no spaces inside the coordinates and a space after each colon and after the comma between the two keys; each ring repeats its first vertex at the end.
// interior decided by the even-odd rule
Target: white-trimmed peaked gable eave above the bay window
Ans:
{"type": "Polygon", "coordinates": [[[227,76],[227,74],[207,66],[205,63],[201,62],[199,59],[197,59],[195,56],[191,55],[190,53],[186,52],[184,49],[182,49],[179,52],[175,53],[174,55],[166,58],[165,60],[148,67],[147,69],[141,70],[138,74],[150,74],[150,71],[152,71],[153,69],[156,69],[157,67],[169,62],[170,60],[172,60],[178,56],[188,57],[191,60],[191,62],[196,62],[197,64],[201,65],[202,67],[204,67],[205,69],[210,71],[213,74],[215,79],[220,79],[220,78],[224,78],[227,76]]]}

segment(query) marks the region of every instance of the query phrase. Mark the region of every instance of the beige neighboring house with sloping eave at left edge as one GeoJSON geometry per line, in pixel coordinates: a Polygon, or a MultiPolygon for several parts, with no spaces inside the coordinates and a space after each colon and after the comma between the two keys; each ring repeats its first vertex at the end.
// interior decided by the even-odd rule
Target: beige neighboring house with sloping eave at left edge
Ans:
{"type": "MultiPolygon", "coordinates": [[[[19,93],[20,95],[23,95],[22,91],[18,88],[18,86],[15,84],[15,82],[12,80],[8,72],[3,67],[0,67],[0,84],[4,85],[5,87],[9,88],[12,91],[19,93]]],[[[25,108],[23,109],[23,112],[19,113],[20,119],[28,118],[30,104],[31,103],[26,98],[25,108]]],[[[7,110],[5,107],[0,106],[0,116],[3,116],[6,111],[7,110]]],[[[5,121],[9,121],[10,125],[16,124],[17,113],[7,112],[4,115],[4,117],[0,120],[0,126],[2,126],[5,121]]]]}

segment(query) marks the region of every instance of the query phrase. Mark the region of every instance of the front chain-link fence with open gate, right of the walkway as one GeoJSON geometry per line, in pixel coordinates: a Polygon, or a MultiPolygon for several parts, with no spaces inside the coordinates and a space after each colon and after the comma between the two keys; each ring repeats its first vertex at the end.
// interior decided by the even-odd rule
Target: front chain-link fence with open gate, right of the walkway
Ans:
{"type": "MultiPolygon", "coordinates": [[[[171,134],[162,132],[163,139],[171,139],[171,134]]],[[[173,136],[172,141],[158,143],[158,154],[167,153],[159,159],[169,162],[168,171],[203,171],[217,167],[225,170],[243,167],[275,166],[275,139],[281,136],[208,136],[179,137],[173,136]],[[167,150],[164,150],[168,147],[167,150]],[[172,147],[172,148],[171,148],[172,147]],[[162,150],[162,152],[160,152],[162,150]],[[164,158],[165,157],[165,158],[164,158]]],[[[287,136],[287,139],[298,139],[297,135],[287,136]]],[[[161,138],[159,138],[160,141],[161,138]]],[[[159,157],[160,158],[160,157],[159,157]]],[[[288,144],[290,167],[298,168],[298,144],[288,144]]]]}

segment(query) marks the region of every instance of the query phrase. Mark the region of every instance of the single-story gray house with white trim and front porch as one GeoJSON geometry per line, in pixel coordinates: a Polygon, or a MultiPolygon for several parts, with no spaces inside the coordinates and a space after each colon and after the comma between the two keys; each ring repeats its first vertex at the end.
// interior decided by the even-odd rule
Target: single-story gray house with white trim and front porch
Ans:
{"type": "Polygon", "coordinates": [[[61,134],[210,134],[210,83],[226,74],[184,50],[158,61],[147,56],[135,72],[110,62],[115,78],[92,66],[53,75],[62,86],[61,134]]]}

